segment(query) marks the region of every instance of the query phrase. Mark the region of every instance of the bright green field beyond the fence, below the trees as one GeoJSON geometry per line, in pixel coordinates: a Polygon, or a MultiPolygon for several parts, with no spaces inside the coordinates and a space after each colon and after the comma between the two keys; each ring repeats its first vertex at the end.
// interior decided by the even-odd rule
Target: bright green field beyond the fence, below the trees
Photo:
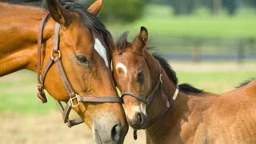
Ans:
{"type": "Polygon", "coordinates": [[[169,6],[146,6],[144,17],[129,25],[107,25],[114,36],[130,30],[137,34],[140,26],[146,26],[150,34],[158,37],[201,37],[201,38],[256,38],[256,12],[238,10],[234,16],[223,12],[218,18],[204,9],[192,15],[175,17],[169,6]]]}

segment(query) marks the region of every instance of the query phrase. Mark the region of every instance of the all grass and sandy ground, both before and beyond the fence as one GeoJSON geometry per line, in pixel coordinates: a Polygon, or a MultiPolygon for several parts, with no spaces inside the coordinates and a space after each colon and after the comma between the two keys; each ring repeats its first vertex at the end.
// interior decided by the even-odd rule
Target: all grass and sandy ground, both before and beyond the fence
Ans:
{"type": "MultiPolygon", "coordinates": [[[[234,17],[222,14],[214,18],[205,10],[198,10],[190,16],[174,17],[170,7],[150,5],[146,7],[145,16],[137,22],[106,26],[115,39],[126,30],[130,30],[130,35],[135,36],[140,26],[146,26],[150,39],[156,38],[160,44],[167,42],[170,37],[256,38],[256,15],[253,10],[241,10],[234,17]]],[[[209,52],[210,46],[207,48],[206,51],[209,52]]],[[[220,49],[222,47],[218,46],[218,51],[220,49]]],[[[186,47],[181,50],[188,51],[186,47]]],[[[230,50],[226,53],[230,53],[230,50]]],[[[214,93],[234,90],[239,83],[256,78],[255,61],[243,64],[171,61],[170,64],[177,72],[179,83],[190,83],[214,93]]],[[[84,124],[72,129],[63,124],[62,115],[49,94],[48,102],[42,104],[36,96],[36,85],[36,74],[29,70],[21,70],[0,78],[0,143],[93,143],[92,133],[84,124]]],[[[125,144],[146,143],[143,130],[138,131],[137,141],[133,140],[132,133],[130,129],[125,144]]]]}

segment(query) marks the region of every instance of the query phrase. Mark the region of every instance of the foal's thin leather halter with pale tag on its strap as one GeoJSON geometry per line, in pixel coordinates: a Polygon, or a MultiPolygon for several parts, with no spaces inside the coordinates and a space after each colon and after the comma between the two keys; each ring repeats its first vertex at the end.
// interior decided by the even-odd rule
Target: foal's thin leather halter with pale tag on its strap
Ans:
{"type": "MultiPolygon", "coordinates": [[[[158,62],[158,70],[159,70],[159,78],[158,78],[158,83],[157,85],[154,87],[154,90],[151,92],[150,96],[148,98],[144,98],[138,94],[134,94],[130,91],[125,91],[122,93],[121,98],[123,98],[125,95],[130,95],[134,98],[138,98],[138,100],[145,102],[146,106],[150,106],[150,103],[152,102],[154,95],[158,92],[159,87],[161,87],[161,96],[162,96],[162,100],[166,103],[166,106],[161,110],[160,114],[158,114],[156,117],[150,119],[150,121],[148,123],[146,123],[146,127],[152,126],[154,124],[154,122],[157,122],[160,118],[162,118],[162,116],[164,114],[166,114],[166,112],[170,109],[170,106],[172,106],[174,104],[175,99],[178,96],[178,92],[179,92],[179,87],[177,85],[176,90],[174,92],[174,96],[173,98],[171,98],[170,100],[168,100],[168,98],[166,97],[166,94],[164,94],[163,90],[162,90],[162,68],[158,62]]],[[[137,139],[137,130],[134,130],[134,139],[137,139]]]]}

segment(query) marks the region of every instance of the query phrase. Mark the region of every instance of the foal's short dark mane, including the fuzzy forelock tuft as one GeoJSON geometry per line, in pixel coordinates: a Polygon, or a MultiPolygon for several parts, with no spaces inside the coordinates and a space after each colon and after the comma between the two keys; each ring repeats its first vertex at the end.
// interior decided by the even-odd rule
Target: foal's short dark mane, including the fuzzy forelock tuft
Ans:
{"type": "MultiPolygon", "coordinates": [[[[116,46],[118,48],[119,54],[122,54],[122,52],[125,50],[126,45],[127,45],[127,37],[128,37],[129,32],[126,31],[124,32],[119,38],[118,41],[116,42],[116,46]]],[[[152,47],[147,46],[146,50],[151,50],[152,47]]],[[[154,53],[153,54],[154,58],[157,59],[159,64],[162,66],[163,70],[166,71],[166,74],[168,77],[174,82],[174,85],[178,85],[178,78],[176,76],[175,71],[171,68],[169,63],[166,61],[165,58],[162,58],[160,54],[154,53]]],[[[187,83],[182,83],[179,86],[179,89],[182,92],[187,92],[187,93],[202,93],[203,90],[199,90],[195,88],[194,86],[191,86],[190,84],[187,83]]]]}

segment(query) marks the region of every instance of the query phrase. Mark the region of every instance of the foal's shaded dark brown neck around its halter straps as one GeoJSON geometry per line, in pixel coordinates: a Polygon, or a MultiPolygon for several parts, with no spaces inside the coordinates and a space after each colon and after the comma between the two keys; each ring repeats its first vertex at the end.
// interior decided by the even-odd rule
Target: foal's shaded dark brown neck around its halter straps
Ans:
{"type": "MultiPolygon", "coordinates": [[[[147,61],[150,62],[149,69],[151,72],[152,79],[152,87],[151,91],[157,84],[159,78],[158,72],[158,64],[157,60],[151,54],[146,54],[147,61]]],[[[158,93],[154,95],[154,99],[150,106],[147,108],[147,116],[150,120],[151,118],[155,118],[162,112],[162,109],[166,106],[166,103],[162,100],[162,92],[166,94],[168,100],[170,100],[174,96],[174,92],[176,90],[176,85],[174,82],[168,77],[166,71],[162,68],[162,88],[159,87],[158,93]]],[[[184,103],[187,102],[187,95],[179,92],[178,98],[175,100],[175,106],[171,106],[170,110],[166,112],[161,118],[158,119],[157,122],[154,122],[152,126],[146,128],[146,137],[149,139],[149,142],[153,143],[161,143],[166,135],[168,135],[171,130],[174,130],[174,125],[178,123],[180,120],[180,115],[182,113],[186,113],[186,105],[183,106],[184,103]],[[182,97],[182,98],[181,98],[182,97]],[[175,111],[175,113],[173,113],[175,111]],[[157,139],[157,140],[156,140],[157,139]],[[152,141],[153,140],[153,141],[152,141]],[[156,140],[154,142],[154,140],[156,140]]]]}

